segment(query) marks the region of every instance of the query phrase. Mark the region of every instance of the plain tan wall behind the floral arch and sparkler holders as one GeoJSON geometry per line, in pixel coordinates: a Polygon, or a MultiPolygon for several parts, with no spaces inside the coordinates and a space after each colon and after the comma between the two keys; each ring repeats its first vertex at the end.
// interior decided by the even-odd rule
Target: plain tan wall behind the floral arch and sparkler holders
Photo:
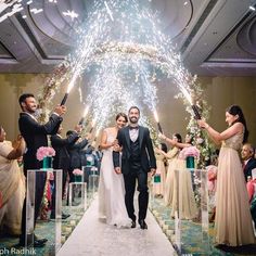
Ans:
{"type": "MultiPolygon", "coordinates": [[[[37,97],[46,82],[44,74],[0,74],[0,124],[8,132],[8,139],[13,140],[18,135],[17,119],[21,112],[18,95],[23,92],[31,92],[37,97]]],[[[205,89],[205,97],[208,105],[212,106],[209,124],[217,130],[223,130],[225,110],[231,104],[242,106],[248,129],[249,141],[256,144],[256,77],[201,77],[199,79],[205,89]]],[[[163,129],[167,136],[174,132],[185,133],[188,114],[181,100],[174,99],[179,91],[171,81],[163,81],[157,85],[159,102],[157,111],[163,129]]],[[[65,92],[65,85],[53,102],[61,102],[65,92]]],[[[67,101],[67,113],[64,117],[64,129],[73,129],[82,114],[82,104],[79,102],[78,90],[73,90],[67,101]]],[[[116,113],[114,113],[115,115],[116,113]]],[[[151,113],[150,113],[151,114],[151,113]]],[[[112,117],[114,119],[114,117],[112,117]]]]}

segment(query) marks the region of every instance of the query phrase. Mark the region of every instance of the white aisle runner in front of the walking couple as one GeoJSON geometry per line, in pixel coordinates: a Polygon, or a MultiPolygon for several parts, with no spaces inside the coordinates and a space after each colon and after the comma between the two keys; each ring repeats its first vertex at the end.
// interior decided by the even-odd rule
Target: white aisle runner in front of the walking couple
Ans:
{"type": "Polygon", "coordinates": [[[170,256],[175,249],[148,210],[148,230],[118,229],[100,222],[92,202],[57,256],[170,256]]]}

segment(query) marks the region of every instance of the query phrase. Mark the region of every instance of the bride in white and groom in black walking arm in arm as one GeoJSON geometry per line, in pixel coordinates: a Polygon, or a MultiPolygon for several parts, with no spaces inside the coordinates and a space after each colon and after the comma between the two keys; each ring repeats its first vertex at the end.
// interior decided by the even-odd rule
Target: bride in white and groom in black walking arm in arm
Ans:
{"type": "Polygon", "coordinates": [[[150,131],[138,125],[139,118],[140,110],[131,106],[128,117],[119,113],[116,126],[103,131],[99,209],[100,218],[105,218],[107,223],[136,228],[133,196],[138,182],[138,222],[141,229],[148,229],[148,172],[154,176],[156,161],[150,131]]]}

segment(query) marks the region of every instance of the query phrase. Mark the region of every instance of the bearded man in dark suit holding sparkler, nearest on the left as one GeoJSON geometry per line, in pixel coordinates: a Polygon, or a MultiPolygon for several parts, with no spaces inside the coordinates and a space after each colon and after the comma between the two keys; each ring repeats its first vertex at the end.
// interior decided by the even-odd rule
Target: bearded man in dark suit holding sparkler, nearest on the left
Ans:
{"type": "MultiPolygon", "coordinates": [[[[20,114],[18,127],[21,135],[25,139],[27,151],[23,156],[24,159],[24,174],[27,176],[28,169],[42,168],[42,162],[36,157],[37,150],[40,146],[48,145],[48,135],[55,135],[60,124],[62,123],[62,115],[65,113],[65,106],[56,106],[54,113],[50,116],[49,121],[44,125],[38,123],[35,117],[37,111],[37,102],[34,94],[25,93],[18,99],[22,107],[20,114]]],[[[43,197],[43,190],[46,184],[46,174],[36,175],[36,195],[35,195],[35,223],[39,215],[41,201],[43,197]]],[[[22,214],[22,234],[20,238],[20,245],[25,245],[25,229],[26,229],[26,199],[23,205],[22,214]]],[[[47,242],[46,239],[38,240],[34,236],[34,246],[43,246],[47,242]]]]}

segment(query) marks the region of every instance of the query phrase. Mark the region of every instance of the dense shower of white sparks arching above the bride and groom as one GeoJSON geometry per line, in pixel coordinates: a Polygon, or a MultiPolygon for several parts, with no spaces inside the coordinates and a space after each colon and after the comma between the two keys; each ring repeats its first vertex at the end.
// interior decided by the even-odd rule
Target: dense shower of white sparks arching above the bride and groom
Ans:
{"type": "Polygon", "coordinates": [[[73,67],[68,90],[81,74],[88,78],[84,102],[90,105],[97,131],[131,105],[142,112],[156,110],[154,82],[162,77],[171,77],[192,104],[190,88],[194,79],[157,21],[143,1],[97,0],[78,29],[76,54],[68,56],[73,67]]]}

